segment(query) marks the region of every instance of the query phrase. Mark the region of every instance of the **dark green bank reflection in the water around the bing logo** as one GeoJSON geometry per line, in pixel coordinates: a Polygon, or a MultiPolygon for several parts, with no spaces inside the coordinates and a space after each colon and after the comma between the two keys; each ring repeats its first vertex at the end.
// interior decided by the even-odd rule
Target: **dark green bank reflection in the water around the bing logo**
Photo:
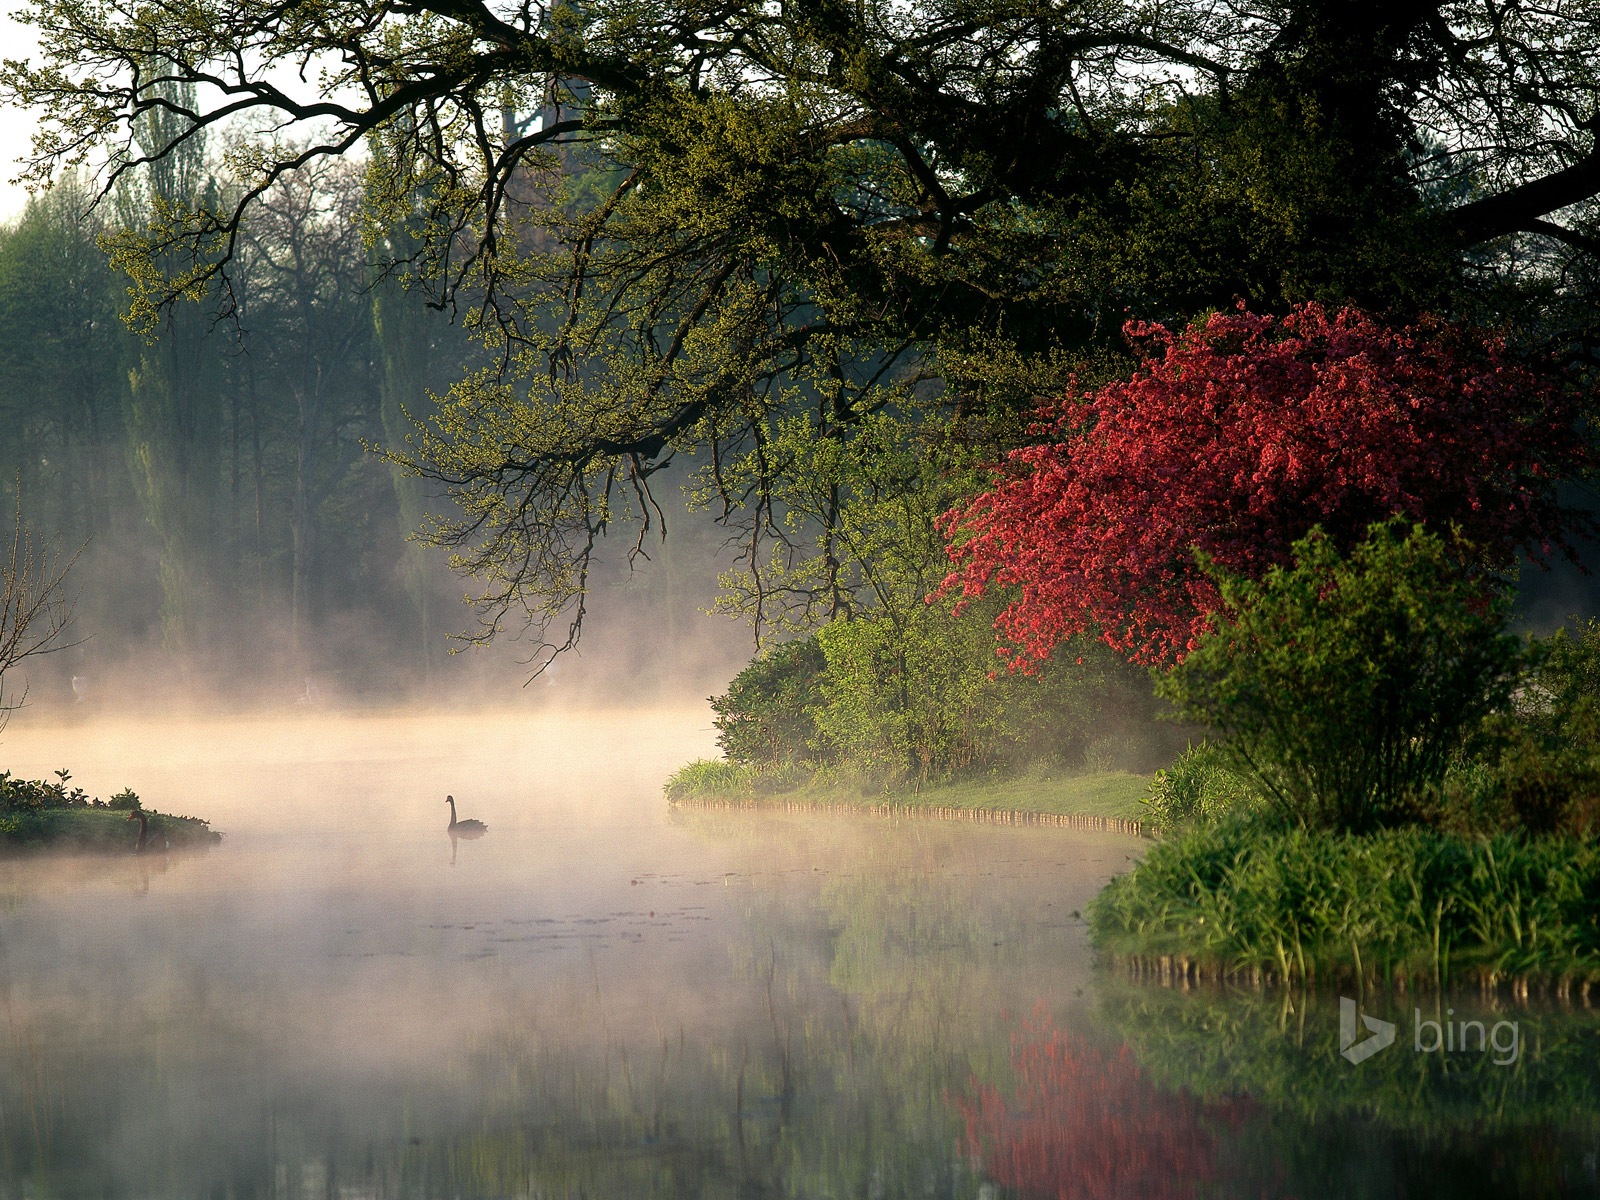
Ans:
{"type": "Polygon", "coordinates": [[[1397,1037],[1350,1064],[1339,1054],[1338,995],[1115,979],[1098,995],[1096,1024],[1154,1086],[1202,1104],[1248,1098],[1269,1118],[1246,1126],[1232,1157],[1251,1171],[1270,1165],[1288,1194],[1600,1195],[1600,1014],[1590,1010],[1366,997],[1397,1037]],[[1496,1027],[1517,1030],[1515,1058],[1493,1043],[1496,1027]]]}

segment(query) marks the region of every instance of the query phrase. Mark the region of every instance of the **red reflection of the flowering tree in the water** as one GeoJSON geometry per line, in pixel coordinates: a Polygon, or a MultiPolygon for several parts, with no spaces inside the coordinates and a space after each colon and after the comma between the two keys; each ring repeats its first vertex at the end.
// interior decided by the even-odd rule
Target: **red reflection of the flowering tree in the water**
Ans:
{"type": "Polygon", "coordinates": [[[1213,1128],[1242,1106],[1197,1104],[1147,1083],[1123,1046],[1107,1053],[1035,1011],[1011,1038],[1018,1093],[962,1101],[968,1152],[1024,1197],[1192,1197],[1216,1168],[1213,1128]]]}

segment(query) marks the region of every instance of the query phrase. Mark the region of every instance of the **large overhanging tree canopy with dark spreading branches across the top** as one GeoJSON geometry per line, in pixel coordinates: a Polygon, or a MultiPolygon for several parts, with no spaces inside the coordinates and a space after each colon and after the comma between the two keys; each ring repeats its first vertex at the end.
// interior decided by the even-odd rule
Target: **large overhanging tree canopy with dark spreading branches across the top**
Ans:
{"type": "Polygon", "coordinates": [[[774,414],[1014,442],[1130,315],[1315,299],[1595,341],[1594,0],[24,11],[40,54],[0,96],[46,112],[35,181],[270,130],[130,243],[136,315],[226,278],[283,174],[366,147],[371,240],[498,354],[402,451],[459,504],[435,534],[488,630],[581,616],[595,539],[659,522],[677,456],[752,566],[826,558],[838,506],[800,546],[762,504],[774,414]]]}

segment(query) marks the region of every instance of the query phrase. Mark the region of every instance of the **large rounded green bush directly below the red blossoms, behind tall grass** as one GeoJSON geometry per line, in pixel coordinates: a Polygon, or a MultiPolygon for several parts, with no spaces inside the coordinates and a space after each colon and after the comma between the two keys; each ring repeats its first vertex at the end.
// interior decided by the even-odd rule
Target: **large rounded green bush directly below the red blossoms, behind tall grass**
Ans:
{"type": "Polygon", "coordinates": [[[1261,582],[1211,570],[1214,629],[1157,685],[1291,819],[1419,819],[1522,664],[1506,606],[1421,526],[1374,525],[1349,558],[1312,531],[1261,582]]]}

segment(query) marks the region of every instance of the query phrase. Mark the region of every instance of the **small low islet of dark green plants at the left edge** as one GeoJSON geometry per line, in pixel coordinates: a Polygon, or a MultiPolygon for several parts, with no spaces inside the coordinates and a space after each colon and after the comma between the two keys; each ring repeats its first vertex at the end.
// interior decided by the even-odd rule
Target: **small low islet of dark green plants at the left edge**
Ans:
{"type": "Polygon", "coordinates": [[[213,846],[222,835],[195,816],[144,808],[133,789],[110,800],[69,787],[70,774],[54,782],[18,779],[0,771],[0,856],[32,853],[155,854],[213,846]],[[141,838],[134,821],[144,818],[141,838]]]}

